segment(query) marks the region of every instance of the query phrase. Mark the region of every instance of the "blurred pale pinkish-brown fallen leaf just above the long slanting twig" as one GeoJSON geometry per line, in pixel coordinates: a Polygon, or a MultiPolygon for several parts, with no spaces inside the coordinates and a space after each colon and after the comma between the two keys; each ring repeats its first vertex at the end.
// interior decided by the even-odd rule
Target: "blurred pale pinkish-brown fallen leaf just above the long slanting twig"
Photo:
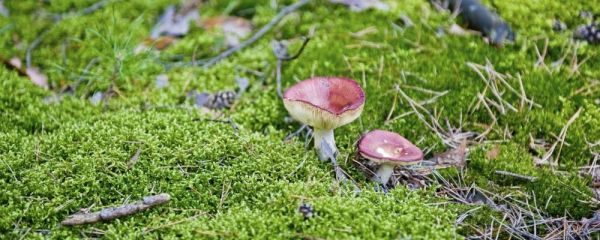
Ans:
{"type": "Polygon", "coordinates": [[[240,17],[213,17],[207,19],[203,24],[205,29],[221,29],[225,37],[227,47],[240,45],[241,39],[250,36],[252,33],[252,23],[247,19],[240,17]]]}

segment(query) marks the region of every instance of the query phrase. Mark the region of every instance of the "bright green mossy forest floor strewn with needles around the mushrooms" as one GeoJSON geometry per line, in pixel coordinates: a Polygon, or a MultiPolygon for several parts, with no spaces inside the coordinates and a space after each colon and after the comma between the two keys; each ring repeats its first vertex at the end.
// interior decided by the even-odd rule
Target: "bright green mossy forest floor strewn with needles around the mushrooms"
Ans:
{"type": "Polygon", "coordinates": [[[600,13],[600,5],[484,1],[517,34],[494,47],[450,31],[460,17],[428,1],[385,2],[353,11],[311,1],[208,65],[294,1],[207,1],[192,9],[200,16],[184,36],[159,41],[148,40],[152,29],[178,1],[4,1],[0,238],[562,239],[598,231],[600,45],[572,35],[589,23],[581,12],[600,13]],[[243,37],[224,34],[223,16],[238,17],[228,34],[243,37]],[[555,19],[567,29],[553,30],[555,19]],[[301,124],[277,95],[272,41],[286,40],[291,55],[306,37],[298,58],[282,62],[283,89],[312,76],[363,87],[361,117],[335,131],[338,162],[360,193],[336,181],[306,131],[289,136],[301,124]],[[198,93],[240,88],[231,107],[196,104],[198,93]],[[357,139],[373,129],[400,133],[426,159],[465,166],[383,193],[353,164],[357,139]],[[453,154],[462,143],[466,159],[453,154]],[[160,193],[171,200],[129,217],[61,224],[160,193]],[[303,205],[314,214],[302,214],[303,205]]]}

